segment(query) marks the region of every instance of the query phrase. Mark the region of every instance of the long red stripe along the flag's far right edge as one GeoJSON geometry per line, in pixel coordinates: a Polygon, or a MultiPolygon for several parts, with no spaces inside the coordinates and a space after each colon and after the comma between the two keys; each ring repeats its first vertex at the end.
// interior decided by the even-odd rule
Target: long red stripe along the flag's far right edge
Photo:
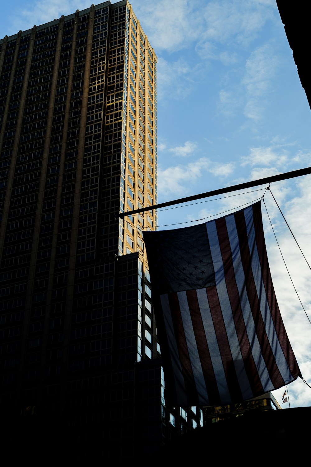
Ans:
{"type": "Polygon", "coordinates": [[[287,337],[287,333],[283,324],[283,319],[276,301],[276,295],[269,268],[266,244],[264,241],[263,220],[260,205],[255,204],[253,206],[253,218],[256,232],[257,251],[263,274],[263,283],[266,290],[267,301],[271,311],[271,316],[276,330],[276,334],[278,336],[280,346],[283,350],[283,354],[285,355],[291,374],[294,378],[297,378],[297,376],[300,376],[302,378],[296,357],[294,355],[293,349],[291,348],[290,341],[287,337]]]}

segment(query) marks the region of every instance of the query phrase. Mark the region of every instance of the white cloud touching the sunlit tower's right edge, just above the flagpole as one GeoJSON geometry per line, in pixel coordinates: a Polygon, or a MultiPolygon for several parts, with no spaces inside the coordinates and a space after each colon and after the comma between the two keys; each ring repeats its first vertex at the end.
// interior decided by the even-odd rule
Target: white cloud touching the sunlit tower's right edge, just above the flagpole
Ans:
{"type": "Polygon", "coordinates": [[[168,167],[158,172],[158,188],[162,195],[180,196],[185,194],[200,177],[211,174],[214,177],[228,177],[233,172],[231,163],[215,163],[207,157],[201,157],[187,165],[168,167]]]}

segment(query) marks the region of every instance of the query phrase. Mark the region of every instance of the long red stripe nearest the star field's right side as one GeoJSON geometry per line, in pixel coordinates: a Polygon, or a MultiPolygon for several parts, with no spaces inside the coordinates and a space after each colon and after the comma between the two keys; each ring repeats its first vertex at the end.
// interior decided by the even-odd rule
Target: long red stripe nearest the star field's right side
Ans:
{"type": "Polygon", "coordinates": [[[221,257],[225,273],[228,297],[230,300],[232,316],[235,323],[235,330],[239,340],[245,371],[249,379],[249,385],[255,397],[256,395],[263,394],[264,390],[252,355],[252,350],[249,344],[249,337],[247,335],[244,318],[242,315],[240,295],[235,281],[235,271],[233,268],[230,241],[227,231],[226,219],[224,217],[216,220],[216,228],[219,245],[221,248],[221,257]]]}

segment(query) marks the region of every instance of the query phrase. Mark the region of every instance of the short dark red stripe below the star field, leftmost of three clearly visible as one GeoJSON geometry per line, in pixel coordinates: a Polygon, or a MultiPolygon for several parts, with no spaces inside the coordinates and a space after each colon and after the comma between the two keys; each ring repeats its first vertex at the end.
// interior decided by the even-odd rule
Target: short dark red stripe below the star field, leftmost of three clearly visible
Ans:
{"type": "Polygon", "coordinates": [[[182,323],[182,318],[180,314],[180,306],[178,301],[178,296],[176,292],[168,294],[168,301],[170,304],[170,310],[173,319],[173,326],[174,326],[174,333],[175,339],[178,348],[178,354],[180,358],[180,364],[184,376],[185,381],[185,389],[187,393],[187,397],[189,405],[194,405],[193,401],[198,401],[198,393],[196,390],[195,382],[194,382],[194,375],[192,371],[191,361],[189,357],[188,347],[187,347],[187,340],[185,336],[184,326],[182,323]]]}

